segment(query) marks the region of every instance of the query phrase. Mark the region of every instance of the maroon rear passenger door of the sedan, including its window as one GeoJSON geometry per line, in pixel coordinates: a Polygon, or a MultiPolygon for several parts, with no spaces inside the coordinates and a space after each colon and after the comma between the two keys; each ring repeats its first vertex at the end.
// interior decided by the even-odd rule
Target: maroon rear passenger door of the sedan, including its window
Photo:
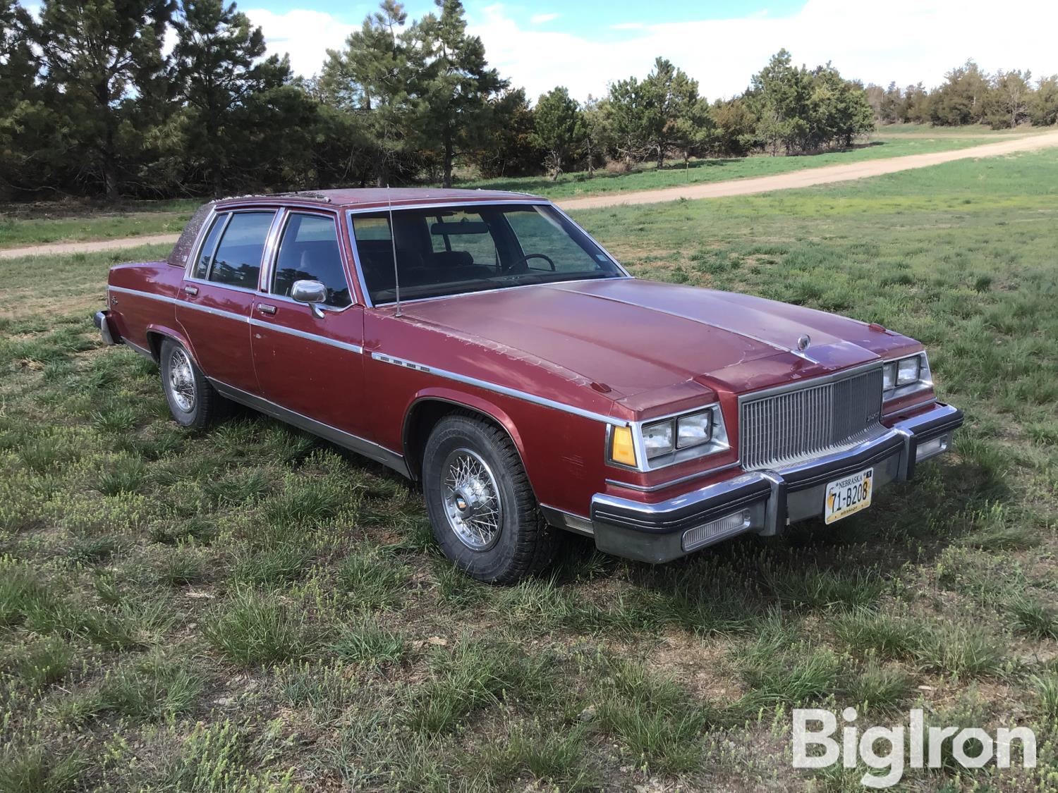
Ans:
{"type": "Polygon", "coordinates": [[[274,209],[218,213],[184,278],[177,320],[206,376],[257,393],[250,313],[274,209]]]}

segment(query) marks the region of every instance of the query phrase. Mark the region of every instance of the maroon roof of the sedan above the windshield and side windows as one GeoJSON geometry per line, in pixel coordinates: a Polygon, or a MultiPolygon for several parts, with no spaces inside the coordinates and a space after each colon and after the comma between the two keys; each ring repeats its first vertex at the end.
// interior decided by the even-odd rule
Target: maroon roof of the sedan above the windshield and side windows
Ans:
{"type": "Polygon", "coordinates": [[[218,199],[217,206],[231,204],[321,204],[338,208],[375,208],[409,204],[474,203],[481,201],[541,201],[541,197],[528,192],[507,190],[464,190],[439,187],[358,187],[333,190],[298,190],[277,192],[270,196],[233,196],[218,199]]]}

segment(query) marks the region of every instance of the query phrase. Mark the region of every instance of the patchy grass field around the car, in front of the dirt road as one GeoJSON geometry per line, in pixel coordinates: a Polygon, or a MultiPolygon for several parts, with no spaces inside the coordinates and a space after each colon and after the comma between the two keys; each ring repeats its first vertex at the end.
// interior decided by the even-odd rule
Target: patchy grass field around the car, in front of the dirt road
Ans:
{"type": "Polygon", "coordinates": [[[90,321],[159,248],[0,262],[0,790],[861,790],[790,768],[797,703],[1030,725],[1035,771],[946,749],[905,788],[1054,790],[1056,190],[1051,150],[579,214],[639,275],[917,336],[968,421],[834,527],[660,568],[572,540],[509,588],[454,572],[380,467],[169,421],[90,321]]]}

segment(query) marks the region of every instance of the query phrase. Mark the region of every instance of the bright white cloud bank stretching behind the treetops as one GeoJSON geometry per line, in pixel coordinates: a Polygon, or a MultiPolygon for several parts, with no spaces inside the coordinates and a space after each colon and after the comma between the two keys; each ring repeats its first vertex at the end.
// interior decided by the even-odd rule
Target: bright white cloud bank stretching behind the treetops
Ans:
{"type": "MultiPolygon", "coordinates": [[[[1015,5],[997,12],[995,0],[890,0],[883,6],[807,0],[785,18],[608,26],[600,14],[597,34],[527,27],[503,4],[472,8],[469,21],[470,32],[485,41],[490,63],[533,98],[554,86],[566,86],[580,98],[599,96],[610,80],[645,75],[658,55],[697,78],[701,92],[715,98],[744,90],[750,75],[784,47],[796,63],[829,60],[847,77],[882,85],[922,80],[930,87],[968,57],[988,71],[1058,72],[1058,2],[1021,0],[1015,5]],[[613,30],[621,36],[615,38],[613,30]]],[[[270,50],[289,51],[300,74],[318,71],[325,49],[342,47],[354,27],[320,12],[248,14],[264,27],[270,50]]]]}

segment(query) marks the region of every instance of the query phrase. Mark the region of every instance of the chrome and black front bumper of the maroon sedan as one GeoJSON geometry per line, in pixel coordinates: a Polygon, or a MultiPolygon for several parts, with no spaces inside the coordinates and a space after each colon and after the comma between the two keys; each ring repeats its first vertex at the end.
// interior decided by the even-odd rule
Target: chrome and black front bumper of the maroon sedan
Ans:
{"type": "Polygon", "coordinates": [[[738,534],[779,534],[820,517],[827,482],[874,467],[874,488],[914,477],[917,463],[948,449],[963,412],[937,403],[882,435],[781,471],[756,471],[656,503],[596,494],[590,532],[601,551],[662,563],[738,534]]]}

